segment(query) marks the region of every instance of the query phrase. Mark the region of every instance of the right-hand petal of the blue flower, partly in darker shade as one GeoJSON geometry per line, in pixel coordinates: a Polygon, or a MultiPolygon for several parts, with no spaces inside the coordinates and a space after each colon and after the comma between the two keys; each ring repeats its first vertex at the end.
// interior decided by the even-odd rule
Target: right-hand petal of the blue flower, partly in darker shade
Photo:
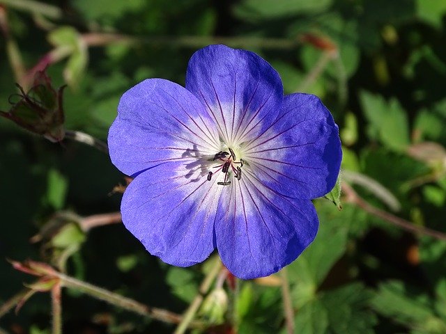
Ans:
{"type": "Polygon", "coordinates": [[[284,196],[321,197],[333,188],[341,166],[338,127],[315,95],[286,95],[277,120],[249,143],[244,159],[284,196]]]}

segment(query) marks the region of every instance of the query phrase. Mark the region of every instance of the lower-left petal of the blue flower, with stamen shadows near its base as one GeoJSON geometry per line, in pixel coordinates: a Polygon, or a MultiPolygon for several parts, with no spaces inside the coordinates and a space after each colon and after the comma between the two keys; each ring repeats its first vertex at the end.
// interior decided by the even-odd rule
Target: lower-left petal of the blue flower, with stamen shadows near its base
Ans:
{"type": "Polygon", "coordinates": [[[179,267],[202,262],[215,248],[221,186],[195,160],[169,162],[139,174],[125,190],[123,223],[149,253],[179,267]]]}

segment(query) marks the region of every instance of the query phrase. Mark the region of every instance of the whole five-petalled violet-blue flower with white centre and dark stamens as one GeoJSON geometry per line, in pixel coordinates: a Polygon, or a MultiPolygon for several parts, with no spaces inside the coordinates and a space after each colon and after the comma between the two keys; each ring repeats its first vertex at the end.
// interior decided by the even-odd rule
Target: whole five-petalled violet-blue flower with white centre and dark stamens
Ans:
{"type": "Polygon", "coordinates": [[[123,223],[148,252],[188,267],[217,248],[245,279],[279,271],[313,241],[311,199],[332,189],[341,164],[318,97],[284,96],[263,58],[224,45],[192,56],[185,88],[130,88],[108,140],[113,164],[134,177],[123,223]]]}

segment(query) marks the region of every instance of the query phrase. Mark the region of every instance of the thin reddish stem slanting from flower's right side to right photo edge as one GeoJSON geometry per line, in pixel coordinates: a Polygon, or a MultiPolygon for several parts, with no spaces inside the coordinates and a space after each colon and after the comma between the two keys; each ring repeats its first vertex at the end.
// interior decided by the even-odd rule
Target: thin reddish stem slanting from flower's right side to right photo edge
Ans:
{"type": "Polygon", "coordinates": [[[406,230],[411,233],[420,233],[424,235],[429,235],[430,237],[433,237],[438,240],[445,240],[446,241],[446,234],[443,232],[439,232],[436,230],[431,230],[430,228],[424,228],[423,226],[414,225],[410,221],[406,221],[406,219],[399,218],[398,216],[394,216],[393,214],[390,214],[389,212],[385,212],[384,210],[378,209],[377,207],[374,207],[372,205],[369,205],[364,199],[362,199],[356,191],[349,186],[347,183],[342,184],[342,190],[344,191],[344,201],[350,202],[354,205],[357,205],[361,209],[363,209],[365,212],[368,212],[369,214],[376,216],[378,218],[383,219],[383,221],[387,221],[388,223],[391,223],[395,226],[398,226],[399,228],[402,228],[403,230],[406,230]]]}

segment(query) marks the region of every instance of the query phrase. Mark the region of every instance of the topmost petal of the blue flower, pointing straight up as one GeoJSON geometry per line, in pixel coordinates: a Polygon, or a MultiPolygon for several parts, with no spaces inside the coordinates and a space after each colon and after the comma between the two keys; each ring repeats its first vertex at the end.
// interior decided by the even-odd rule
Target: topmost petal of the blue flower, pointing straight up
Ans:
{"type": "Polygon", "coordinates": [[[207,106],[228,145],[255,138],[282,103],[279,74],[251,51],[210,45],[187,65],[186,88],[207,106]]]}

